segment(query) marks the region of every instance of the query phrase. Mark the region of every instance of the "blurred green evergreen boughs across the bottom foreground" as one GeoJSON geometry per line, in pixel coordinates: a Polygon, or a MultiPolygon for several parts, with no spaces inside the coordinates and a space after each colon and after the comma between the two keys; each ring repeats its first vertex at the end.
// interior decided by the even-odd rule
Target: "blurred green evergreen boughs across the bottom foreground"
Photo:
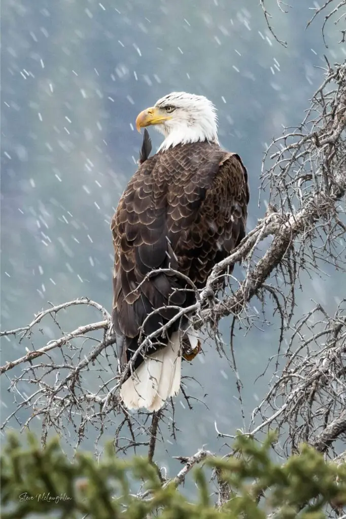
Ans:
{"type": "Polygon", "coordinates": [[[274,441],[274,435],[263,444],[238,435],[234,456],[207,457],[192,471],[197,490],[187,499],[177,480],[162,483],[148,459],[118,458],[111,444],[98,461],[84,452],[71,461],[58,439],[42,448],[33,434],[28,434],[25,445],[12,433],[1,456],[2,517],[322,519],[328,510],[342,515],[345,464],[327,462],[312,447],[302,445],[281,465],[271,456],[274,441]],[[208,467],[227,495],[219,507],[208,467]]]}

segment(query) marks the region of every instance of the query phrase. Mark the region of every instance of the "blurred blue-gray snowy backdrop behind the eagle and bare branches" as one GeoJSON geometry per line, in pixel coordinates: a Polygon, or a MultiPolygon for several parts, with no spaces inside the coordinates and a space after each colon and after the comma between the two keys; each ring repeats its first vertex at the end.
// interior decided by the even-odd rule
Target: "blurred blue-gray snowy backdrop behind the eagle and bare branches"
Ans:
{"type": "MultiPolygon", "coordinates": [[[[326,31],[328,49],[320,32],[322,18],[305,30],[313,2],[294,0],[287,13],[276,2],[268,3],[273,28],[287,40],[287,48],[270,34],[257,4],[3,0],[2,330],[29,323],[48,302],[87,296],[110,310],[109,225],[136,170],[141,136],[134,121],[170,91],[204,94],[217,106],[221,144],[239,153],[248,169],[248,228],[254,227],[265,211],[263,203],[258,208],[258,187],[266,145],[283,126],[303,118],[323,80],[323,54],[331,62],[345,54],[334,24],[326,31]]],[[[155,150],[161,136],[153,129],[150,134],[155,150]]],[[[237,272],[242,274],[239,268],[237,272]]],[[[311,298],[334,311],[344,291],[329,274],[305,285],[297,318],[311,308],[311,298]]],[[[86,324],[90,315],[90,320],[100,319],[96,312],[87,316],[81,308],[71,311],[64,330],[86,324]]],[[[231,319],[224,319],[221,325],[226,344],[230,324],[231,319]]],[[[44,331],[43,341],[57,338],[56,330],[44,331]]],[[[249,413],[268,387],[270,373],[255,379],[277,350],[278,322],[272,319],[271,326],[245,332],[237,331],[235,350],[249,413]]],[[[2,364],[24,353],[18,339],[3,340],[2,364]]],[[[178,445],[172,439],[171,444],[161,443],[163,460],[164,448],[181,455],[192,455],[203,444],[220,448],[215,420],[219,430],[230,434],[244,425],[235,375],[212,345],[193,365],[184,364],[184,375],[195,375],[203,384],[199,388],[188,381],[190,393],[208,408],[196,403],[189,411],[181,395],[177,397],[182,432],[178,445]]],[[[3,377],[3,416],[14,408],[7,387],[3,377]]],[[[112,432],[107,431],[108,438],[112,432]]],[[[95,436],[90,429],[83,447],[92,448],[95,436]]]]}

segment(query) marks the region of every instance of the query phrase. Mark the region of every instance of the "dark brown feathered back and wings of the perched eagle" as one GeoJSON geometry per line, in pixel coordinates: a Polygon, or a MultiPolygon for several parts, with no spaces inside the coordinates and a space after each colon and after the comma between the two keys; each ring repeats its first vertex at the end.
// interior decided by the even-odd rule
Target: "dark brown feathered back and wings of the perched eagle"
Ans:
{"type": "MultiPolygon", "coordinates": [[[[163,307],[185,307],[195,300],[193,291],[177,291],[187,283],[172,272],[158,272],[143,282],[145,276],[170,267],[203,288],[212,267],[244,238],[248,201],[241,158],[217,144],[180,144],[140,165],[111,224],[113,321],[117,334],[124,337],[119,352],[123,365],[137,349],[140,327],[154,309],[161,308],[144,325],[145,335],[177,311],[163,307]]],[[[167,342],[157,340],[161,344],[153,349],[167,342]]],[[[138,356],[134,367],[142,360],[138,356]]]]}

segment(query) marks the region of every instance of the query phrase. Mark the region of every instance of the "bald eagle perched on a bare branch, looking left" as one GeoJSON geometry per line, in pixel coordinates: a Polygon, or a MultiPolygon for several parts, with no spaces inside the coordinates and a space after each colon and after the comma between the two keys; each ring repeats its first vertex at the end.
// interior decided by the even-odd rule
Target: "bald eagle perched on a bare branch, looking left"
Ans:
{"type": "MultiPolygon", "coordinates": [[[[189,279],[203,289],[212,267],[246,234],[247,172],[239,155],[219,146],[215,106],[203,95],[172,92],[138,115],[139,131],[150,125],[165,139],[149,158],[144,141],[111,223],[122,370],[146,336],[196,301],[189,279]]],[[[176,395],[188,347],[190,360],[200,343],[187,317],[152,338],[127,370],[124,405],[157,411],[176,395]]]]}

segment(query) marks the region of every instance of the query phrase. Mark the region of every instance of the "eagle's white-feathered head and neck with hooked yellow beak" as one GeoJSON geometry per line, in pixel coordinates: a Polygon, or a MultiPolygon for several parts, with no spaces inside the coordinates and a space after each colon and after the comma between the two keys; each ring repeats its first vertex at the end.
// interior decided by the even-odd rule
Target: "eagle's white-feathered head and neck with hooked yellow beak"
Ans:
{"type": "Polygon", "coordinates": [[[150,125],[165,135],[159,151],[198,141],[218,144],[216,108],[204,95],[187,92],[165,95],[136,119],[138,131],[150,125]]]}

